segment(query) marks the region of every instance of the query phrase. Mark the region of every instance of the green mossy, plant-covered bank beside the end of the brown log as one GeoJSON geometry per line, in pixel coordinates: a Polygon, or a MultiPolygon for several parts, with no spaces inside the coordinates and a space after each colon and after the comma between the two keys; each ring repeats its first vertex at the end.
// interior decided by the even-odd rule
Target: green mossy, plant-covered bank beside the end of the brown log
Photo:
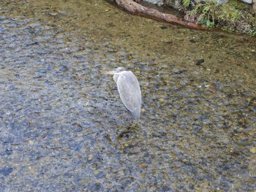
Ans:
{"type": "Polygon", "coordinates": [[[252,7],[238,0],[219,5],[213,1],[197,4],[187,14],[200,14],[197,23],[206,27],[219,27],[226,31],[256,34],[256,19],[252,7]]]}

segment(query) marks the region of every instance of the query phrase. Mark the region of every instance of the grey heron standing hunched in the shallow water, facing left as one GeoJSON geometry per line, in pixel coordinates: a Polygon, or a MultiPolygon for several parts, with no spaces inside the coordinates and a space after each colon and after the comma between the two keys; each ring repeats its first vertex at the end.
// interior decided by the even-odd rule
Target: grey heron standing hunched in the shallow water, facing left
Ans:
{"type": "Polygon", "coordinates": [[[113,74],[121,101],[132,114],[132,117],[138,120],[140,118],[141,92],[140,84],[135,74],[130,71],[124,71],[121,67],[103,74],[113,74]]]}

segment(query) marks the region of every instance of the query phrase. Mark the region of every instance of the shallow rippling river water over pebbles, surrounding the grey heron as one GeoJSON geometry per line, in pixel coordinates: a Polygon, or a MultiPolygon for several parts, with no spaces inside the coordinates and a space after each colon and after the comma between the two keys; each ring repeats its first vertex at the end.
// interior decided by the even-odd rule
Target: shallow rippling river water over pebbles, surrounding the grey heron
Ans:
{"type": "Polygon", "coordinates": [[[255,191],[256,39],[108,1],[1,1],[0,191],[255,191]],[[138,77],[141,118],[110,76],[138,77]]]}

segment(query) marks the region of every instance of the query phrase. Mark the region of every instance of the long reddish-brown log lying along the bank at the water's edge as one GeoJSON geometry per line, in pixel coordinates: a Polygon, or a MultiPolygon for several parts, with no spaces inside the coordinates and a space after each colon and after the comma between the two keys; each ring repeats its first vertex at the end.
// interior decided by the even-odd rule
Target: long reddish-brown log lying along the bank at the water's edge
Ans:
{"type": "Polygon", "coordinates": [[[175,15],[170,15],[166,13],[159,12],[157,9],[152,9],[148,7],[144,7],[133,0],[115,0],[116,3],[126,9],[129,12],[132,12],[135,15],[142,15],[147,18],[154,18],[157,20],[163,20],[167,23],[176,23],[181,26],[185,26],[188,28],[195,28],[199,30],[203,30],[202,26],[198,26],[195,23],[185,22],[184,20],[179,20],[175,15]]]}

